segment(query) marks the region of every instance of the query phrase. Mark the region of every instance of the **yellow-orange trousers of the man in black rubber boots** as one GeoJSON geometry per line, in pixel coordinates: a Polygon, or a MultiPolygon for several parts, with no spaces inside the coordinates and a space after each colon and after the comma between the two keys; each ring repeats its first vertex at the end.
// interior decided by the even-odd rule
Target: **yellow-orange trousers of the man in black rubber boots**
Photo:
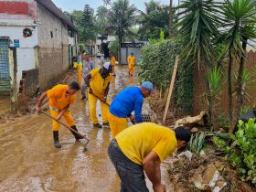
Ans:
{"type": "MultiPolygon", "coordinates": [[[[59,112],[58,111],[55,111],[55,110],[49,110],[49,113],[50,113],[50,116],[52,116],[53,118],[57,118],[58,115],[59,115],[59,112]]],[[[75,121],[71,115],[71,112],[69,112],[69,110],[67,110],[66,112],[64,112],[63,116],[67,125],[69,127],[75,125],[75,121]]],[[[56,122],[55,120],[52,120],[52,131],[59,131],[59,123],[56,122]]]]}

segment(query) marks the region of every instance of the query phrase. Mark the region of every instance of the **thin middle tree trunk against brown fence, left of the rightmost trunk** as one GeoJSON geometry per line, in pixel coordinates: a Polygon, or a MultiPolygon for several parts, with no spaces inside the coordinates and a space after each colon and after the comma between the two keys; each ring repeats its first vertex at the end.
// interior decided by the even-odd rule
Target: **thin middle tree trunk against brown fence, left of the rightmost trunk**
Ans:
{"type": "Polygon", "coordinates": [[[233,112],[232,112],[232,63],[233,57],[231,49],[229,48],[229,70],[228,70],[228,95],[229,95],[229,122],[231,123],[233,120],[233,112]]]}

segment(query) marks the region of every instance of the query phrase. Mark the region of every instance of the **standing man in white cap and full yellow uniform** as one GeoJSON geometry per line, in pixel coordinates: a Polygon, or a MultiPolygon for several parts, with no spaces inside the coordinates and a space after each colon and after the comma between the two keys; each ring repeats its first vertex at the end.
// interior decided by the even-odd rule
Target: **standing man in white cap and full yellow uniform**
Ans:
{"type": "Polygon", "coordinates": [[[91,122],[94,127],[101,128],[102,125],[109,125],[108,121],[108,111],[109,101],[107,100],[107,96],[109,93],[110,82],[112,80],[112,65],[110,62],[106,62],[103,64],[102,68],[93,69],[91,72],[85,77],[85,83],[88,86],[88,103],[90,110],[91,122]],[[91,82],[90,82],[91,80],[91,82]],[[96,115],[96,106],[97,101],[101,100],[101,113],[102,113],[102,122],[101,125],[96,115]]]}

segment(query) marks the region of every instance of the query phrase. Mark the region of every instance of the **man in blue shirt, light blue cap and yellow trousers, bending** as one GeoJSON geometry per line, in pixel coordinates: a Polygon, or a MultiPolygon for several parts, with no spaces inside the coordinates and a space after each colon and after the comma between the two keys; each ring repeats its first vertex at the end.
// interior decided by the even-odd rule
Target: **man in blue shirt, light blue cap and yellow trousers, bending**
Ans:
{"type": "Polygon", "coordinates": [[[119,92],[113,99],[110,106],[108,119],[112,131],[112,137],[115,137],[123,129],[128,127],[128,119],[132,123],[142,123],[142,108],[144,98],[148,97],[153,91],[153,83],[144,81],[141,86],[128,87],[119,92]],[[132,112],[134,111],[134,116],[132,112]]]}

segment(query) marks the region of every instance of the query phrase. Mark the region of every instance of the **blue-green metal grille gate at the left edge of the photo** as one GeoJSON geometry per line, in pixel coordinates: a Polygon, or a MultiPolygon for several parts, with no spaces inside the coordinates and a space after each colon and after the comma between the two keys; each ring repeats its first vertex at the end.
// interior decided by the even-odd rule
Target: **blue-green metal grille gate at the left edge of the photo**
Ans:
{"type": "Polygon", "coordinates": [[[10,93],[9,39],[0,38],[0,92],[10,93]]]}

